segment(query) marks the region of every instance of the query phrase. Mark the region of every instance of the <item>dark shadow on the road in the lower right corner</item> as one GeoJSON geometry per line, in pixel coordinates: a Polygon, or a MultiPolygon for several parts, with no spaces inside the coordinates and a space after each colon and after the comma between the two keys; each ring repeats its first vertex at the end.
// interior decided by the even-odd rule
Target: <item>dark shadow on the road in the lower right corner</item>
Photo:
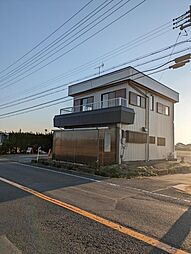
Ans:
{"type": "MultiPolygon", "coordinates": [[[[191,207],[172,225],[169,231],[160,239],[161,242],[170,246],[181,248],[191,231],[191,207]]],[[[158,254],[160,251],[154,248],[150,254],[158,254]]]]}

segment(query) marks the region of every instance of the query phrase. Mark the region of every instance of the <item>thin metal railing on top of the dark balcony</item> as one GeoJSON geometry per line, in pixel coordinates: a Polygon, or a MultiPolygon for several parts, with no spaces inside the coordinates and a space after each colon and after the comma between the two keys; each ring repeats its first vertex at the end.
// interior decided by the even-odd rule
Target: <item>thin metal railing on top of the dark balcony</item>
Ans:
{"type": "Polygon", "coordinates": [[[60,114],[64,115],[64,114],[91,111],[91,110],[101,109],[101,108],[111,108],[111,107],[117,107],[117,106],[128,107],[128,100],[122,97],[118,97],[118,98],[94,102],[94,103],[90,103],[86,105],[63,108],[60,110],[60,114]]]}

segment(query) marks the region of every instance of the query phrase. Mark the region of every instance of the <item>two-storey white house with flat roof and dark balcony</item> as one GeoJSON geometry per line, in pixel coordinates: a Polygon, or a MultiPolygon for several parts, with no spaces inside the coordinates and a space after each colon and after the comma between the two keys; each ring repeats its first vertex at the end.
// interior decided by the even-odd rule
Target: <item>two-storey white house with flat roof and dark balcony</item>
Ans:
{"type": "Polygon", "coordinates": [[[54,118],[53,158],[111,164],[174,156],[179,94],[127,67],[69,86],[73,107],[54,118]]]}

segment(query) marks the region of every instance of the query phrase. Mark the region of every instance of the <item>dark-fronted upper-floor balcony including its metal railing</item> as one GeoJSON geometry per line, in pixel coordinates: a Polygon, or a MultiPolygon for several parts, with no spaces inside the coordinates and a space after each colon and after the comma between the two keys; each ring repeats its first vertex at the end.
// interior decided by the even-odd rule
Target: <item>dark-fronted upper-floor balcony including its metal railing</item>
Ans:
{"type": "Polygon", "coordinates": [[[119,97],[63,108],[60,110],[60,115],[54,117],[54,127],[87,128],[103,127],[117,123],[133,124],[134,115],[134,110],[128,108],[127,99],[119,97]]]}

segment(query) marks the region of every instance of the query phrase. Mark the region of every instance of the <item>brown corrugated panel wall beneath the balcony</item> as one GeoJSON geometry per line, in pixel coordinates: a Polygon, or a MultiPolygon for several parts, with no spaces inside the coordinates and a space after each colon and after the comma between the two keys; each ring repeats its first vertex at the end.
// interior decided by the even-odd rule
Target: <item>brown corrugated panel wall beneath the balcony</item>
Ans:
{"type": "Polygon", "coordinates": [[[110,152],[104,152],[104,131],[105,129],[55,131],[53,158],[84,164],[95,164],[97,160],[101,165],[116,163],[116,129],[109,129],[110,152]]]}

